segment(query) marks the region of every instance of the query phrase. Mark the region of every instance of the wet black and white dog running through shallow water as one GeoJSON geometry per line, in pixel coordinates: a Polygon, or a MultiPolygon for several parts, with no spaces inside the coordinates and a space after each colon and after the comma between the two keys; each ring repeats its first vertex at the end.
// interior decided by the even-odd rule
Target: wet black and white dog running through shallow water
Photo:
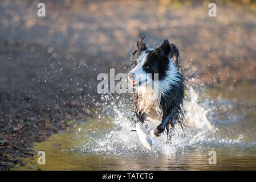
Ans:
{"type": "Polygon", "coordinates": [[[184,78],[178,66],[179,52],[168,40],[157,48],[147,48],[144,36],[136,44],[131,56],[132,70],[128,80],[135,89],[133,111],[136,131],[139,139],[151,150],[152,140],[147,135],[143,123],[161,121],[153,137],[159,137],[166,130],[167,142],[170,141],[170,130],[176,123],[184,125],[184,78]],[[157,78],[156,78],[157,77],[157,78]]]}

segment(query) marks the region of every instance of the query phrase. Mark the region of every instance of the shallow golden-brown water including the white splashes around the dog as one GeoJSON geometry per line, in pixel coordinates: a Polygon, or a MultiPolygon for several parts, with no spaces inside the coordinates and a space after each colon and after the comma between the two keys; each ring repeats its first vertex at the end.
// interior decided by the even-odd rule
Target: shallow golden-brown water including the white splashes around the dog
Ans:
{"type": "MultiPolygon", "coordinates": [[[[74,131],[35,144],[36,151],[46,152],[46,165],[38,165],[35,155],[14,169],[256,169],[255,90],[255,85],[247,84],[204,91],[190,87],[185,129],[176,128],[172,146],[165,144],[165,135],[153,138],[152,151],[130,132],[134,123],[128,101],[114,104],[113,98],[104,96],[106,106],[98,118],[80,121],[74,131]],[[209,151],[216,152],[216,165],[209,164],[209,151]]],[[[149,130],[157,124],[146,122],[149,130]]]]}

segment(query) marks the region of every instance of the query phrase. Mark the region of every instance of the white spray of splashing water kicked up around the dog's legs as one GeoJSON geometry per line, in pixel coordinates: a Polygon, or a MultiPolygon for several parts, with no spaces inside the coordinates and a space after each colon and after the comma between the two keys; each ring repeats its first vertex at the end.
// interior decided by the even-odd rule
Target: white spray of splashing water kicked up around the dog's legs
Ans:
{"type": "MultiPolygon", "coordinates": [[[[109,100],[109,97],[104,97],[109,100]]],[[[113,102],[111,102],[113,106],[113,102]]],[[[119,103],[120,104],[120,103],[119,103]]],[[[166,135],[152,138],[152,151],[143,147],[136,132],[130,132],[135,128],[135,123],[129,119],[132,112],[128,111],[129,104],[121,102],[121,106],[113,106],[112,117],[109,122],[113,123],[113,129],[101,133],[93,141],[84,144],[83,152],[104,155],[177,155],[191,150],[204,150],[205,147],[216,146],[244,146],[255,145],[254,142],[246,142],[241,136],[237,139],[222,138],[218,135],[218,127],[213,121],[209,121],[208,114],[214,112],[212,105],[202,106],[198,101],[198,94],[190,87],[189,94],[184,102],[186,110],[186,127],[184,130],[177,126],[172,137],[172,145],[166,144],[166,135]]],[[[109,110],[109,107],[107,108],[109,110]]],[[[145,126],[150,132],[159,125],[159,122],[145,121],[145,126]]]]}

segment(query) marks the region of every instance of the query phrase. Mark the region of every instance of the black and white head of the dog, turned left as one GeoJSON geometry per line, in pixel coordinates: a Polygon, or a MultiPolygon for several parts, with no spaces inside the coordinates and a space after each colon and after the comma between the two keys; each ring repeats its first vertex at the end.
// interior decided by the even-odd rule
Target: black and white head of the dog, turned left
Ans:
{"type": "Polygon", "coordinates": [[[174,44],[168,40],[157,48],[147,48],[143,42],[144,36],[136,43],[136,50],[132,53],[132,71],[128,79],[132,86],[152,84],[153,81],[164,80],[178,62],[179,52],[174,44]]]}

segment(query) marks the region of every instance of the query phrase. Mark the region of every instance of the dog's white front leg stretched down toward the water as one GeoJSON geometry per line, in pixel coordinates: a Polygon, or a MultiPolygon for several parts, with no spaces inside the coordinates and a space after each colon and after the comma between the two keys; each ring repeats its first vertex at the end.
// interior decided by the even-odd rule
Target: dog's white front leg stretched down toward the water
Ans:
{"type": "MultiPolygon", "coordinates": [[[[143,117],[144,118],[144,117],[143,117]]],[[[147,130],[143,126],[144,121],[141,121],[141,117],[136,113],[135,114],[135,122],[136,122],[136,131],[139,135],[140,142],[143,144],[144,147],[148,148],[151,151],[152,140],[147,134],[147,130]]]]}

